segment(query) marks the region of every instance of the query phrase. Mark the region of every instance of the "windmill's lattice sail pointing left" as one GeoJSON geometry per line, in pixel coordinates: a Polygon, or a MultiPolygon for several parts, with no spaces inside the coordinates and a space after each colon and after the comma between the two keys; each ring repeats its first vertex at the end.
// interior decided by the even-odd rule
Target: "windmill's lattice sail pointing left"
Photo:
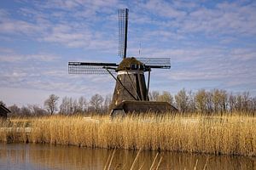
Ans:
{"type": "Polygon", "coordinates": [[[115,63],[85,63],[68,62],[69,74],[109,74],[108,71],[115,73],[117,68],[115,63]],[[107,71],[108,69],[108,71],[107,71]]]}

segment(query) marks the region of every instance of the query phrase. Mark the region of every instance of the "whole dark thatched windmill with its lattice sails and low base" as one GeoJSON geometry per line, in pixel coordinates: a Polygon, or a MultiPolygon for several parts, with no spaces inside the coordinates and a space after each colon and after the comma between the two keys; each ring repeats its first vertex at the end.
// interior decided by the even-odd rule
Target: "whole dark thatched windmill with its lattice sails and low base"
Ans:
{"type": "Polygon", "coordinates": [[[116,63],[68,62],[69,74],[110,74],[116,82],[111,115],[119,112],[177,111],[167,102],[149,101],[148,88],[152,69],[170,69],[169,58],[127,57],[128,8],[119,9],[119,56],[116,63]],[[148,72],[148,82],[144,73],[148,72]],[[117,76],[115,74],[117,73],[117,76]]]}

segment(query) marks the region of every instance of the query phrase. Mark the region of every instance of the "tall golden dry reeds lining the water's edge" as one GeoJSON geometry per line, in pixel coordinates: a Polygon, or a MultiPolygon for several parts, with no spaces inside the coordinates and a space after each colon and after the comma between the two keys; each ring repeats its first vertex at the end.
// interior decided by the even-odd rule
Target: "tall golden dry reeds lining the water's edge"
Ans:
{"type": "Polygon", "coordinates": [[[256,156],[252,116],[49,116],[1,124],[3,142],[256,156]]]}

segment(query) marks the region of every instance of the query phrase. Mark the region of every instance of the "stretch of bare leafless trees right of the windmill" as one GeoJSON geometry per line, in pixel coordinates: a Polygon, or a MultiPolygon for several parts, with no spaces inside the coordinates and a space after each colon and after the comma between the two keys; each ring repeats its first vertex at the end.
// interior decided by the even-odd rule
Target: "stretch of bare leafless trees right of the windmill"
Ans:
{"type": "Polygon", "coordinates": [[[256,112],[256,97],[251,97],[248,92],[232,94],[220,89],[210,91],[200,89],[193,93],[183,88],[174,96],[169,92],[160,94],[153,91],[149,94],[149,99],[170,102],[181,113],[223,114],[236,112],[255,115],[256,112]]]}

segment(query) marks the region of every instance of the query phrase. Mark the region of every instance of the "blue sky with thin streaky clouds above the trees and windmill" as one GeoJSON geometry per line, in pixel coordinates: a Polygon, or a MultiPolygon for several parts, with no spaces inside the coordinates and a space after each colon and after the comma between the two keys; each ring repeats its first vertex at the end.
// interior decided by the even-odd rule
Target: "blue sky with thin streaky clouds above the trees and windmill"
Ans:
{"type": "Polygon", "coordinates": [[[67,63],[120,62],[119,8],[129,8],[128,56],[171,58],[152,71],[151,91],[256,95],[256,1],[2,0],[0,100],[113,94],[110,75],[69,75],[67,63]]]}

